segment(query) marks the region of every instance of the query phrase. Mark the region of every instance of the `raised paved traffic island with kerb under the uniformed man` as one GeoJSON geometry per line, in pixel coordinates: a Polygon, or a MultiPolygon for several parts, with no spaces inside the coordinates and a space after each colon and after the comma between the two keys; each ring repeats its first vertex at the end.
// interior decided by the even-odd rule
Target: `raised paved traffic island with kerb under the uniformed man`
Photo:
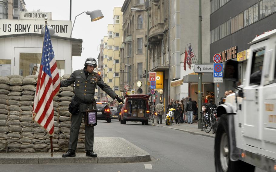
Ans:
{"type": "Polygon", "coordinates": [[[63,158],[64,152],[0,153],[0,164],[71,164],[71,163],[130,163],[150,161],[150,154],[120,137],[94,137],[94,152],[98,157],[86,157],[76,152],[76,157],[63,158]]]}

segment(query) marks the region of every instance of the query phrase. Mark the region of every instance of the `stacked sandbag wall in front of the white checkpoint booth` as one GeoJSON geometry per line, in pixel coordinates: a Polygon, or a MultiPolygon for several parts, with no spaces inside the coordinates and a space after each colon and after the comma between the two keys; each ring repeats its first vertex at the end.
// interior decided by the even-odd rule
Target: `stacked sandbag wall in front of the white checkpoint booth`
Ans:
{"type": "MultiPolygon", "coordinates": [[[[63,75],[68,78],[70,75],[63,75]]],[[[32,121],[37,75],[0,77],[0,152],[44,152],[50,150],[50,135],[32,121]]],[[[60,88],[54,98],[53,149],[67,151],[71,114],[68,111],[73,87],[60,88]]],[[[76,151],[85,151],[84,121],[76,151]]]]}

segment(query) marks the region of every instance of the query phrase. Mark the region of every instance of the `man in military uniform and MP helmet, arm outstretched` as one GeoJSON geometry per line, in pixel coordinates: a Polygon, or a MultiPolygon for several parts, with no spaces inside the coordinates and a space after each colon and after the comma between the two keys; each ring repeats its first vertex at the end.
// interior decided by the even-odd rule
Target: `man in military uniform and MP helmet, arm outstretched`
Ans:
{"type": "MultiPolygon", "coordinates": [[[[82,117],[85,121],[86,110],[96,109],[96,101],[94,99],[95,89],[98,85],[103,91],[105,91],[111,98],[117,99],[120,103],[121,98],[103,82],[99,74],[93,70],[97,67],[97,61],[94,58],[87,58],[82,70],[74,71],[68,79],[60,81],[60,87],[68,87],[75,83],[75,97],[80,100],[78,114],[72,114],[69,149],[62,157],[75,157],[76,147],[78,143],[79,128],[82,122],[82,117]]],[[[94,142],[94,127],[85,125],[85,149],[86,156],[97,157],[97,154],[93,152],[94,142]]]]}

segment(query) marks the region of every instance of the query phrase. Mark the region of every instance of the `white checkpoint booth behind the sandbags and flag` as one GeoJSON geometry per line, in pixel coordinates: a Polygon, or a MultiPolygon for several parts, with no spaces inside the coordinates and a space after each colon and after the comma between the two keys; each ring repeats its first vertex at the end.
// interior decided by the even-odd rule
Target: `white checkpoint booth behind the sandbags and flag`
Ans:
{"type": "MultiPolygon", "coordinates": [[[[72,73],[72,56],[81,56],[82,39],[51,36],[60,76],[72,73]]],[[[38,74],[43,34],[0,36],[0,76],[38,74]]]]}

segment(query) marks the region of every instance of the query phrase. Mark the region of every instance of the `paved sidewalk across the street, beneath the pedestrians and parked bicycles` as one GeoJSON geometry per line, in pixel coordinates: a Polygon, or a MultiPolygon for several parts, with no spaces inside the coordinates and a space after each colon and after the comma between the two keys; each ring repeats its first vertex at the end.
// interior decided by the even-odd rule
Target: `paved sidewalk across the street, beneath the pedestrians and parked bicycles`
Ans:
{"type": "Polygon", "coordinates": [[[174,125],[166,125],[164,119],[163,119],[162,124],[157,124],[156,121],[157,121],[157,119],[154,119],[154,123],[150,124],[150,125],[157,126],[157,127],[171,128],[174,130],[185,131],[190,134],[202,135],[202,136],[206,136],[206,137],[215,138],[215,134],[212,134],[212,131],[210,131],[210,133],[206,133],[205,131],[200,131],[200,129],[197,128],[197,121],[195,121],[193,124],[188,124],[188,123],[175,124],[175,123],[173,123],[174,125]]]}

